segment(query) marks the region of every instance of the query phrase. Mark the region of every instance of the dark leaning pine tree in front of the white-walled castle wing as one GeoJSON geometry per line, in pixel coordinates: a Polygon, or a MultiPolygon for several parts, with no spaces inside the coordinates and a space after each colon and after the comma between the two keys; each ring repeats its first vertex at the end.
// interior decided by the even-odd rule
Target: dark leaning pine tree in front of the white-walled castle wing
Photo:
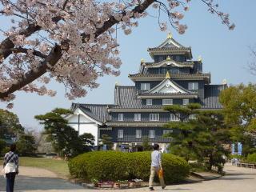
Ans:
{"type": "Polygon", "coordinates": [[[63,118],[67,114],[72,114],[72,111],[57,108],[49,113],[35,116],[44,125],[44,134],[52,143],[54,151],[62,158],[74,157],[84,150],[78,131],[68,126],[68,122],[63,118]]]}

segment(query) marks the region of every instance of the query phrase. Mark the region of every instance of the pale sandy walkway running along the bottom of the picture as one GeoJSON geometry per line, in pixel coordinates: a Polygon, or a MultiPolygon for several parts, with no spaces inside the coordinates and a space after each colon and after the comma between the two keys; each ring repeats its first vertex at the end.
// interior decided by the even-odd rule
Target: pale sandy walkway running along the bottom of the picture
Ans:
{"type": "MultiPolygon", "coordinates": [[[[211,181],[166,186],[166,192],[255,192],[256,190],[256,169],[242,168],[236,166],[225,166],[226,176],[211,181]]],[[[94,192],[98,190],[86,190],[57,178],[47,170],[21,167],[21,175],[16,181],[15,191],[84,191],[94,192]]],[[[4,190],[5,180],[0,178],[0,191],[4,190]]],[[[162,191],[161,187],[155,187],[156,191],[162,191]]],[[[147,188],[130,190],[100,190],[102,192],[144,192],[147,188]]]]}

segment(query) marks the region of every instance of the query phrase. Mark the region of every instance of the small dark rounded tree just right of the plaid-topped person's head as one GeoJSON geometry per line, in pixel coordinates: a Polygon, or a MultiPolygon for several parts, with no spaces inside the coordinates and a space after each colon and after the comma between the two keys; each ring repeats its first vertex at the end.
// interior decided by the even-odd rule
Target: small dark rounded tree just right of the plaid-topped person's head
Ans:
{"type": "Polygon", "coordinates": [[[18,154],[21,156],[34,156],[37,150],[36,139],[31,133],[22,134],[16,145],[18,154]]]}

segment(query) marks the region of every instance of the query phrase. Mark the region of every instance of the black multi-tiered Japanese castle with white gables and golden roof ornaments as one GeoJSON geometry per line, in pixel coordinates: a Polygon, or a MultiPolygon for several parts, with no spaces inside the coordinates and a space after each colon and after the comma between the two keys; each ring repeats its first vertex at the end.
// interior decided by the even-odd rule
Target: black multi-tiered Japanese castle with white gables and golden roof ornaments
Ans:
{"type": "Polygon", "coordinates": [[[91,133],[95,146],[102,134],[114,142],[114,148],[125,146],[142,150],[142,142],[158,143],[165,149],[172,130],[163,126],[179,119],[165,110],[165,105],[187,105],[197,102],[203,110],[222,109],[218,95],[226,88],[210,84],[210,73],[202,72],[202,59],[194,61],[190,47],[182,46],[169,34],[160,46],[149,48],[153,62],[143,59],[137,74],[129,74],[134,86],[114,87],[113,104],[73,103],[73,115],[66,117],[79,134],[91,133]]]}

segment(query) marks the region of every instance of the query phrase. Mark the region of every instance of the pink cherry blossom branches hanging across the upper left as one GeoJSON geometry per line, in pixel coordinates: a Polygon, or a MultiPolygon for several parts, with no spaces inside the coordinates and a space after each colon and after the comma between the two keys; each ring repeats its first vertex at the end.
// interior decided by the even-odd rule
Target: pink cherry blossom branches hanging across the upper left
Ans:
{"type": "MultiPolygon", "coordinates": [[[[49,82],[66,87],[66,97],[84,97],[98,87],[98,77],[118,76],[116,29],[130,34],[153,6],[160,30],[169,26],[184,34],[179,23],[190,0],[0,0],[0,17],[10,19],[10,28],[0,26],[0,99],[9,102],[21,90],[54,96],[49,82]],[[183,8],[183,9],[179,9],[183,8]],[[168,22],[160,14],[167,14],[168,22]]],[[[234,29],[228,14],[217,10],[214,0],[202,1],[210,13],[234,29]]]]}

